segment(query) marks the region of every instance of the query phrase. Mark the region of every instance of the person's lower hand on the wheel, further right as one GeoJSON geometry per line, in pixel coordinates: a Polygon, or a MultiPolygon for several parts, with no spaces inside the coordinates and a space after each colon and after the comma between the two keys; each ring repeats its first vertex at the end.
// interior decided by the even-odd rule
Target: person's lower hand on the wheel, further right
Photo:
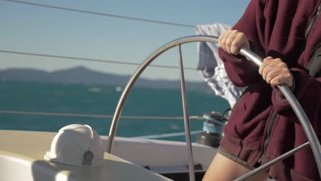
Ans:
{"type": "Polygon", "coordinates": [[[265,58],[259,68],[259,73],[262,75],[263,80],[272,86],[287,84],[289,88],[294,90],[293,75],[287,68],[287,64],[280,58],[265,58]]]}

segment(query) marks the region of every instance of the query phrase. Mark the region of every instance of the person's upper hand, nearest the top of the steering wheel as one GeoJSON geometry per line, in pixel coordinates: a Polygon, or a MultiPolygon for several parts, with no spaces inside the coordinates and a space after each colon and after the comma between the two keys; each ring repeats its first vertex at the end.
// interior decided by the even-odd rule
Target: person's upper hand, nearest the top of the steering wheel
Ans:
{"type": "Polygon", "coordinates": [[[250,43],[246,35],[237,31],[236,29],[229,29],[221,36],[219,36],[219,47],[229,54],[234,54],[235,56],[239,53],[241,47],[250,49],[250,43]]]}

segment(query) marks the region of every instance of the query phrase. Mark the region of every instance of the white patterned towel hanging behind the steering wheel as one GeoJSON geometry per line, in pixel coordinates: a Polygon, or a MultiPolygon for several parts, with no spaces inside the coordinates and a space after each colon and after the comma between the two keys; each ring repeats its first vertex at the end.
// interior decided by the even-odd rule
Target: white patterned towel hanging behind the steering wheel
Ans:
{"type": "MultiPolygon", "coordinates": [[[[197,25],[196,34],[219,36],[227,29],[230,29],[230,26],[221,23],[197,25]]],[[[198,43],[198,55],[198,72],[215,94],[226,99],[232,108],[244,88],[239,88],[230,82],[224,64],[218,55],[218,45],[216,43],[198,43]]]]}

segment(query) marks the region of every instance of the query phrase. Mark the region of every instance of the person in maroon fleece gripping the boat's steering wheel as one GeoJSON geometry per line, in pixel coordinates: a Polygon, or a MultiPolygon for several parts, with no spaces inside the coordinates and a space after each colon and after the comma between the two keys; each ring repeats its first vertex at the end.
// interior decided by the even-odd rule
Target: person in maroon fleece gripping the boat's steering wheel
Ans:
{"type": "MultiPolygon", "coordinates": [[[[296,115],[275,86],[287,84],[321,140],[321,78],[309,75],[321,43],[320,0],[252,0],[237,24],[219,37],[230,80],[249,86],[233,108],[219,152],[203,180],[233,180],[307,142],[296,115]],[[265,57],[258,69],[241,56],[246,47],[265,57]]],[[[320,180],[310,147],[252,180],[320,180]]]]}

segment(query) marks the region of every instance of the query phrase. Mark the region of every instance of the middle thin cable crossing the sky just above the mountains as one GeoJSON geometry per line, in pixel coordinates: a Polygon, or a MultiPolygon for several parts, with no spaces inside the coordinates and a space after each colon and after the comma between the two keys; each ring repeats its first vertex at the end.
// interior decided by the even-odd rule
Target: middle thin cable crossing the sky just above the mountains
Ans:
{"type": "MultiPolygon", "coordinates": [[[[29,53],[29,52],[21,52],[21,51],[7,51],[7,50],[0,50],[0,53],[11,53],[11,54],[20,54],[25,56],[41,56],[41,57],[49,57],[49,58],[63,58],[63,59],[70,59],[70,60],[83,60],[83,61],[91,61],[91,62],[103,62],[103,63],[112,63],[112,64],[127,64],[127,65],[141,65],[139,63],[133,62],[119,62],[119,61],[112,61],[112,60],[102,60],[102,59],[94,59],[94,58],[80,58],[80,57],[73,57],[73,56],[55,56],[55,55],[48,55],[48,54],[40,54],[40,53],[29,53]]],[[[167,66],[167,65],[156,65],[152,64],[150,67],[158,67],[158,68],[166,68],[166,69],[179,69],[179,67],[175,66],[167,66]]],[[[191,67],[184,67],[187,70],[195,71],[195,68],[191,67]]]]}

